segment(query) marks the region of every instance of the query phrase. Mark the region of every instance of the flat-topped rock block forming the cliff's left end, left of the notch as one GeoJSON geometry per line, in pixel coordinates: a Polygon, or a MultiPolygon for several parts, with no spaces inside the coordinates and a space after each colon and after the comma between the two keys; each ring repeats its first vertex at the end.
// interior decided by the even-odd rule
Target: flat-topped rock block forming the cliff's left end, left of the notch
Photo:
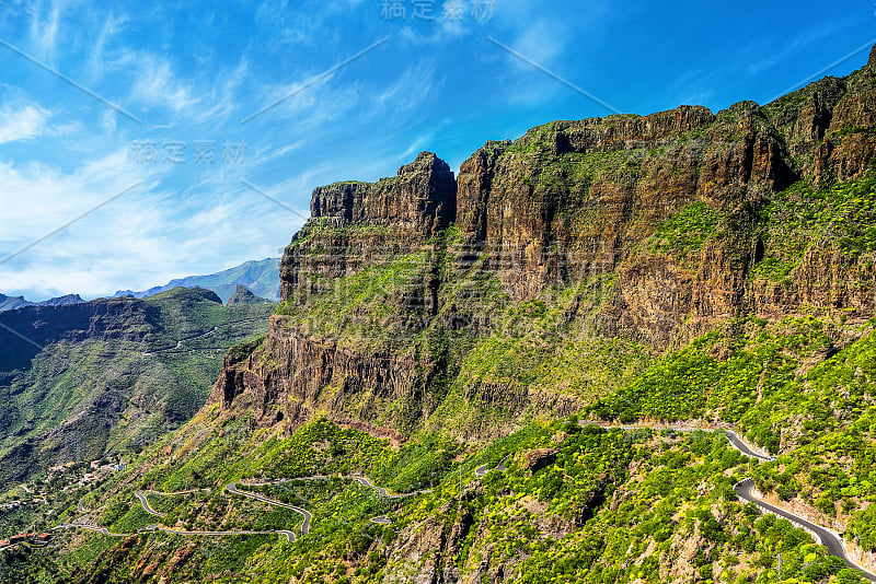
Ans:
{"type": "Polygon", "coordinates": [[[323,412],[342,423],[362,421],[378,430],[389,424],[383,431],[390,434],[410,430],[437,405],[429,387],[443,371],[440,359],[399,342],[349,338],[324,326],[336,316],[334,308],[314,322],[309,306],[321,303],[347,312],[339,327],[370,323],[372,308],[382,306],[393,316],[376,327],[402,342],[417,336],[437,313],[439,282],[431,256],[454,210],[453,174],[426,152],[395,177],[315,189],[312,218],[287,247],[280,266],[286,314],[281,309],[272,318],[258,353],[242,362],[226,359],[211,399],[227,408],[238,399],[238,406],[257,411],[263,423],[298,423],[323,412]],[[415,262],[405,281],[368,279],[351,291],[344,280],[420,252],[428,257],[415,262]],[[376,304],[357,308],[353,301],[338,302],[354,293],[376,304]]]}

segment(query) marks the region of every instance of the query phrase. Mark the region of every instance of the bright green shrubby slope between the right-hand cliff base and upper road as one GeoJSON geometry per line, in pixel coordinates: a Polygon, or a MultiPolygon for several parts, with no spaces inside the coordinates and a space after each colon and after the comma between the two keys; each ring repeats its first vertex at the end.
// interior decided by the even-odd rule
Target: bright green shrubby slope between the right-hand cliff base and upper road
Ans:
{"type": "MultiPolygon", "coordinates": [[[[660,360],[589,411],[621,421],[718,417],[777,452],[791,420],[807,433],[838,429],[876,395],[874,334],[866,329],[841,351],[833,347],[835,336],[832,322],[812,317],[772,325],[739,320],[660,360]],[[722,353],[729,355],[716,358],[722,353]]],[[[808,442],[805,435],[785,441],[808,442]]]]}

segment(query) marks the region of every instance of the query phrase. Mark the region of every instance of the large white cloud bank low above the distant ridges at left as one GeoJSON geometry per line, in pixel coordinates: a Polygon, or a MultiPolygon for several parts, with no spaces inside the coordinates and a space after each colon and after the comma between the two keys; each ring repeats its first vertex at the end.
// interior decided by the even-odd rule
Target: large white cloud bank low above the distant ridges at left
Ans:
{"type": "MultiPolygon", "coordinates": [[[[0,257],[85,214],[0,264],[0,291],[43,300],[147,289],[276,256],[303,223],[243,188],[237,176],[215,173],[185,187],[191,174],[176,174],[178,167],[128,159],[117,151],[70,173],[39,163],[0,164],[0,257]],[[134,190],[89,212],[138,180],[134,190]]],[[[299,185],[306,183],[300,178],[299,185]]],[[[288,200],[289,192],[277,197],[288,200]]]]}

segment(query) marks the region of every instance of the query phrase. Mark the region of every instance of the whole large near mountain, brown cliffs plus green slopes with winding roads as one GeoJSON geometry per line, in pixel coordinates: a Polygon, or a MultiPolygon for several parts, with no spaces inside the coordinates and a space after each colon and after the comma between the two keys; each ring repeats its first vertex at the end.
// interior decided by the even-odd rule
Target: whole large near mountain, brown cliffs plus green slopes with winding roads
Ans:
{"type": "Polygon", "coordinates": [[[127,469],[49,480],[5,577],[864,582],[874,166],[876,48],[320,187],[264,337],[127,469]]]}

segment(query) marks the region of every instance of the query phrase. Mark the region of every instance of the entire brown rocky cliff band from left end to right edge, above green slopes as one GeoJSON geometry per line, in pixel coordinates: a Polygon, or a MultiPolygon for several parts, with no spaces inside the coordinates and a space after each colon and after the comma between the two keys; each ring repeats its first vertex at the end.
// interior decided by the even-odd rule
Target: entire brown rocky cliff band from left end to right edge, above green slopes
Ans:
{"type": "Polygon", "coordinates": [[[226,360],[212,399],[290,428],[320,413],[407,432],[459,402],[567,413],[601,382],[533,375],[539,355],[587,359],[588,338],[661,352],[738,315],[868,317],[872,250],[831,208],[844,191],[815,191],[871,166],[875,75],[876,50],[763,107],[555,121],[487,142],[457,180],[423,153],[318,188],[270,331],[226,360]]]}

